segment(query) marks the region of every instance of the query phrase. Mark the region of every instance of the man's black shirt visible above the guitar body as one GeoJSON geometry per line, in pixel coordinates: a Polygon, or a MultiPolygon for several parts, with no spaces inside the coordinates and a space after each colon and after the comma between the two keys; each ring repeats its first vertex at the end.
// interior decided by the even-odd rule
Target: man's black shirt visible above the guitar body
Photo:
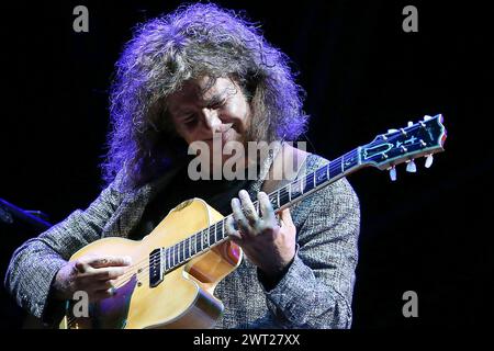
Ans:
{"type": "Polygon", "coordinates": [[[138,225],[130,235],[131,239],[142,239],[158,226],[170,210],[193,197],[204,200],[211,207],[227,216],[232,213],[232,199],[238,197],[238,192],[249,186],[248,180],[193,181],[187,171],[186,166],[171,179],[170,185],[147,204],[138,225]]]}

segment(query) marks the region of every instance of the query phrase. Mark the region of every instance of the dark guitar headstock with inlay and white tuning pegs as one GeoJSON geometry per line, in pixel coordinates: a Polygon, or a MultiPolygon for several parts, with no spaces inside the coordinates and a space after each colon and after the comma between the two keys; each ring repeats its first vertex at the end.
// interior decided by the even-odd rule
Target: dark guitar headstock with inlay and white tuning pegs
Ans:
{"type": "Polygon", "coordinates": [[[446,128],[442,115],[425,116],[424,121],[400,129],[390,129],[378,135],[371,143],[360,147],[360,163],[390,170],[396,180],[395,166],[407,162],[406,170],[415,172],[414,159],[426,157],[426,168],[433,165],[433,154],[444,151],[446,128]]]}

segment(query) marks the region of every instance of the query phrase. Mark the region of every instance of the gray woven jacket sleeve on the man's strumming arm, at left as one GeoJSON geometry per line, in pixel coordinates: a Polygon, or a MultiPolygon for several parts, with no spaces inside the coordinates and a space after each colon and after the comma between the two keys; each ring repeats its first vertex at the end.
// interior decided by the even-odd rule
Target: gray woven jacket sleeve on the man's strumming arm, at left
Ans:
{"type": "Polygon", "coordinates": [[[86,211],[75,211],[65,220],[15,250],[4,283],[21,307],[46,320],[44,314],[49,305],[48,294],[56,273],[77,250],[101,237],[121,197],[114,181],[86,211]]]}

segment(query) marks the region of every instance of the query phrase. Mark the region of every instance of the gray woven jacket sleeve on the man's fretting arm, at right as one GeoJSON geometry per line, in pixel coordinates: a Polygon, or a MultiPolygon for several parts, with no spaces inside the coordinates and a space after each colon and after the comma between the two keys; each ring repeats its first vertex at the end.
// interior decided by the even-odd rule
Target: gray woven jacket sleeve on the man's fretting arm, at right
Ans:
{"type": "Polygon", "coordinates": [[[297,251],[288,271],[267,290],[258,270],[268,308],[282,328],[350,328],[358,197],[341,179],[302,201],[295,212],[308,215],[297,226],[297,251]]]}

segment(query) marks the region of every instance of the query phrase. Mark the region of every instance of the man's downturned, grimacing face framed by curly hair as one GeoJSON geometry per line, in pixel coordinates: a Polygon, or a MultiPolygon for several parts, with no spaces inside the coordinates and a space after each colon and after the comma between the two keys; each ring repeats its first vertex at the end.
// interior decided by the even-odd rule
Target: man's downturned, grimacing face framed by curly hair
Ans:
{"type": "MultiPolygon", "coordinates": [[[[245,141],[250,106],[240,87],[232,79],[218,78],[204,92],[207,79],[188,81],[168,98],[168,111],[177,133],[187,141],[204,141],[213,152],[213,138],[222,148],[228,141],[245,141]]],[[[214,150],[221,152],[221,150],[214,150]]],[[[229,155],[223,155],[222,161],[229,155]]]]}

